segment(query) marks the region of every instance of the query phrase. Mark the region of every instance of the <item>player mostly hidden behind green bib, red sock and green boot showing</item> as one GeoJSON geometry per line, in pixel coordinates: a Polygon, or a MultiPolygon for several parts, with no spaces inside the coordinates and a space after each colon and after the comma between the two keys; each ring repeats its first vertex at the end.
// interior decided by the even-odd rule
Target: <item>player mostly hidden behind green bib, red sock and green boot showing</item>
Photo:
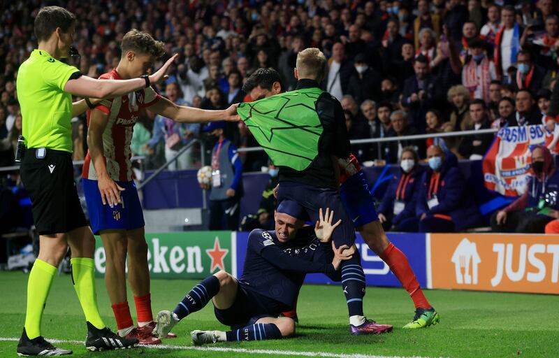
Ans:
{"type": "MultiPolygon", "coordinates": [[[[271,68],[258,69],[252,73],[242,86],[242,90],[249,94],[254,101],[284,92],[279,73],[271,68]]],[[[406,255],[389,241],[382,229],[365,173],[357,158],[350,154],[347,158],[339,159],[338,164],[341,183],[340,197],[354,227],[363,236],[363,240],[369,248],[386,262],[414,301],[416,308],[414,318],[403,328],[416,329],[436,324],[439,322],[439,315],[423,294],[406,255]]],[[[277,188],[275,192],[277,193],[277,188]]],[[[295,310],[286,312],[284,315],[297,318],[295,310]]]]}

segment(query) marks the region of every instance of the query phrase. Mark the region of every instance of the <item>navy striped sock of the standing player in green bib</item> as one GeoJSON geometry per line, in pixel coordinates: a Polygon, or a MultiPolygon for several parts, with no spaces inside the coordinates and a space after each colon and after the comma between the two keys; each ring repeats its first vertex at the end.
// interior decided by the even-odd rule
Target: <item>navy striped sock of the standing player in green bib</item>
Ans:
{"type": "Polygon", "coordinates": [[[342,289],[347,301],[349,316],[363,316],[363,296],[365,296],[365,273],[361,267],[359,252],[342,262],[342,289]]]}

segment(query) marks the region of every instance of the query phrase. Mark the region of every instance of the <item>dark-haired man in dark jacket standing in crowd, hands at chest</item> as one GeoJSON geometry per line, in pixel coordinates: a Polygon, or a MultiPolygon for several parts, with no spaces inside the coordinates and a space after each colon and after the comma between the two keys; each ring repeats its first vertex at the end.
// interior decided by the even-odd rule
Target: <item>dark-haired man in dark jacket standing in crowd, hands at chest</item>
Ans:
{"type": "Polygon", "coordinates": [[[409,108],[410,124],[423,131],[425,113],[440,98],[437,79],[429,73],[429,60],[419,56],[414,62],[415,76],[405,81],[402,106],[409,108]]]}

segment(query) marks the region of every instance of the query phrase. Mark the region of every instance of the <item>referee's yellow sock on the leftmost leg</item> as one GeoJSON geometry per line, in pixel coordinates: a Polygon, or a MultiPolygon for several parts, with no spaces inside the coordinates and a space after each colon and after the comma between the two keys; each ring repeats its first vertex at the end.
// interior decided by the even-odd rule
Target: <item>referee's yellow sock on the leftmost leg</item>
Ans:
{"type": "Polygon", "coordinates": [[[27,280],[27,310],[24,326],[29,339],[41,336],[43,310],[56,272],[55,266],[41,259],[36,259],[31,268],[29,280],[27,280]]]}

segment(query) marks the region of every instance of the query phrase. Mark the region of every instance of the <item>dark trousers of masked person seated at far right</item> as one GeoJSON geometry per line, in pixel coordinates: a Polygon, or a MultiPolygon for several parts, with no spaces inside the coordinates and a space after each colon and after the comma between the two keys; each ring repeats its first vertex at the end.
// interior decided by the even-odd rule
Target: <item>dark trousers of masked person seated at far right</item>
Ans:
{"type": "Polygon", "coordinates": [[[544,234],[546,224],[553,220],[547,215],[537,215],[536,213],[525,213],[523,210],[511,211],[507,213],[507,220],[504,224],[497,224],[497,214],[495,211],[491,215],[491,231],[493,232],[518,232],[523,234],[544,234]]]}

